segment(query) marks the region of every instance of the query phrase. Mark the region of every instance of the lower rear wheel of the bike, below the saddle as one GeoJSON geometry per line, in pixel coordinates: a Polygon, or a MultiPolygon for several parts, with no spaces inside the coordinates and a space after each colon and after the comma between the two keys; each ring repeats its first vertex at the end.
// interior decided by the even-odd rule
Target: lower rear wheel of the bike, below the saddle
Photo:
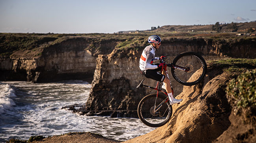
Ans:
{"type": "Polygon", "coordinates": [[[149,127],[161,127],[168,123],[172,117],[172,105],[167,96],[161,94],[149,94],[140,100],[138,105],[138,116],[140,120],[149,127]],[[159,108],[155,111],[155,107],[159,108]]]}

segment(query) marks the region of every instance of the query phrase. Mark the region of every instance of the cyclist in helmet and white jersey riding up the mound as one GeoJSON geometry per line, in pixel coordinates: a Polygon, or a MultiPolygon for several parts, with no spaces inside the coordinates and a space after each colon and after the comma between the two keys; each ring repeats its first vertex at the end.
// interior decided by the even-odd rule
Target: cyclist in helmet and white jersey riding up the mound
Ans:
{"type": "Polygon", "coordinates": [[[159,73],[161,71],[163,63],[160,64],[152,64],[155,60],[160,60],[160,58],[166,58],[166,56],[155,57],[155,51],[159,49],[161,45],[161,38],[158,35],[152,35],[148,37],[148,45],[142,52],[140,56],[140,71],[146,78],[151,78],[153,80],[164,82],[162,88],[166,89],[166,92],[169,96],[170,104],[179,103],[182,99],[175,99],[172,95],[172,88],[170,85],[170,80],[165,78],[166,74],[164,72],[159,73]],[[166,87],[166,88],[165,88],[166,87]]]}

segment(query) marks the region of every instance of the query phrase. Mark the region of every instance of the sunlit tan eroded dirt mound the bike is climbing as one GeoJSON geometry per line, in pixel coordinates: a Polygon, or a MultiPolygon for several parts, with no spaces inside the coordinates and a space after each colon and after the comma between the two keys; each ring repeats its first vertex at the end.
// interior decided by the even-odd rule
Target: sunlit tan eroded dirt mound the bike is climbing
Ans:
{"type": "Polygon", "coordinates": [[[166,125],[125,142],[214,141],[231,124],[228,119],[231,107],[222,87],[227,81],[224,73],[217,76],[207,74],[202,83],[184,87],[183,92],[176,97],[183,101],[179,105],[173,105],[173,117],[166,125]]]}

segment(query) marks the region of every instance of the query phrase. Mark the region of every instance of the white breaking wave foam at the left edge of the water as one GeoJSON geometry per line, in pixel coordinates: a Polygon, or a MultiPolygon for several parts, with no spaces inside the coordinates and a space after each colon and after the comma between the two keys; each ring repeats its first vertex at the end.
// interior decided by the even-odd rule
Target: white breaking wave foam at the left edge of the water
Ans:
{"type": "Polygon", "coordinates": [[[14,90],[10,85],[0,83],[0,114],[15,105],[14,101],[11,99],[15,96],[14,90]]]}

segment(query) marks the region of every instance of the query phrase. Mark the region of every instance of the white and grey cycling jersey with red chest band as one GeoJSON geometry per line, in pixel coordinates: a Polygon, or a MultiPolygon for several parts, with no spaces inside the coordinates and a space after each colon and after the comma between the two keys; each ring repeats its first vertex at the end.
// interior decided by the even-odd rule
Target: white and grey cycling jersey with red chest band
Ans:
{"type": "Polygon", "coordinates": [[[148,45],[140,56],[140,70],[145,71],[147,69],[157,69],[157,65],[151,65],[154,60],[159,60],[155,57],[155,48],[152,45],[148,45]]]}

